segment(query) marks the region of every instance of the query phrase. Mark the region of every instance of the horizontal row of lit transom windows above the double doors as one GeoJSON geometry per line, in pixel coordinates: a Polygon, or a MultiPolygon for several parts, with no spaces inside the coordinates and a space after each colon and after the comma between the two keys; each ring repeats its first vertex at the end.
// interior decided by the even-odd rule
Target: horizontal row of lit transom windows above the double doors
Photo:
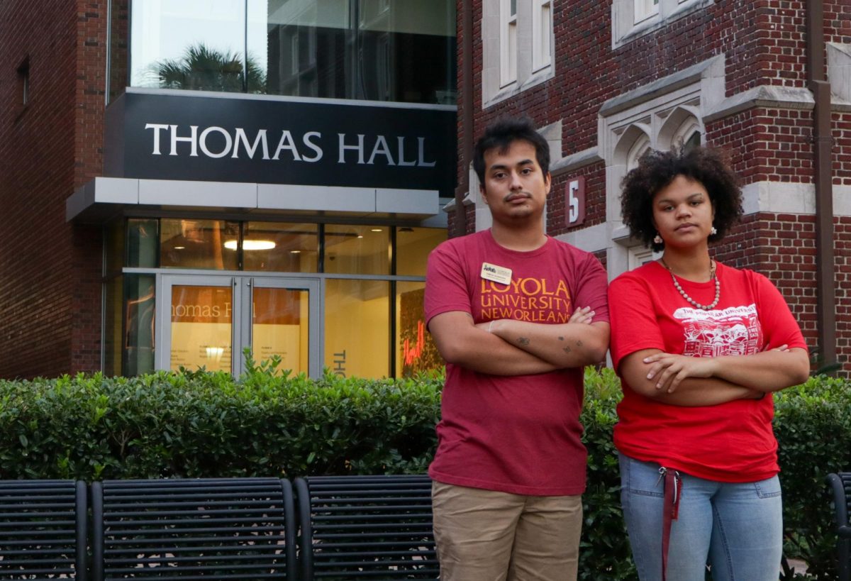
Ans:
{"type": "Polygon", "coordinates": [[[130,218],[126,238],[118,232],[107,229],[111,273],[123,265],[390,275],[395,249],[396,274],[425,276],[428,253],[446,239],[444,228],[178,218],[130,218]]]}

